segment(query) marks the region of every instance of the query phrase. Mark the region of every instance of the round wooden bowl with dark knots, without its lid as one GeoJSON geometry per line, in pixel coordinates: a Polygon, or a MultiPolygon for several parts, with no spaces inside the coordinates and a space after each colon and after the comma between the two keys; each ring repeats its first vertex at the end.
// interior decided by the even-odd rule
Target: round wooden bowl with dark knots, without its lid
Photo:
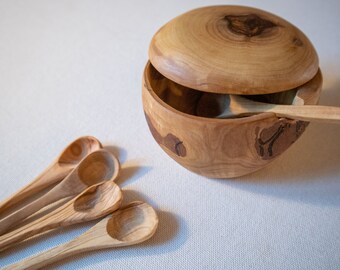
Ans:
{"type": "MultiPolygon", "coordinates": [[[[288,149],[308,124],[273,113],[239,119],[198,117],[203,92],[175,84],[151,64],[147,64],[143,79],[145,116],[156,142],[179,164],[210,178],[238,177],[265,167],[288,149]]],[[[294,91],[270,98],[286,104],[316,104],[321,85],[319,72],[294,91]]]]}

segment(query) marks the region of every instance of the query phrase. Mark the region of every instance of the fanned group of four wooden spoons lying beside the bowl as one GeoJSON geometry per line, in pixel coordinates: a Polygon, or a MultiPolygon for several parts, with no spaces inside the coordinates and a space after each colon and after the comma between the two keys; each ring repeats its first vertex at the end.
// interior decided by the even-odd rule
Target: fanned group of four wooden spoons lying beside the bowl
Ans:
{"type": "Polygon", "coordinates": [[[0,252],[45,231],[104,219],[71,242],[5,269],[39,269],[78,252],[149,239],[157,214],[143,202],[121,206],[122,191],[114,182],[119,171],[118,159],[96,138],[84,136],[68,145],[40,176],[0,204],[0,252]]]}

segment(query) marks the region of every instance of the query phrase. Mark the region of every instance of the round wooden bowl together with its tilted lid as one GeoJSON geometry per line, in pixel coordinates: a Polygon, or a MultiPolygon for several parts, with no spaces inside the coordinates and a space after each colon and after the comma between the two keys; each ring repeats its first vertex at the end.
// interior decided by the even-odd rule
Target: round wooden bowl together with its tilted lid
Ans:
{"type": "Polygon", "coordinates": [[[247,7],[206,7],[175,18],[155,34],[149,58],[142,97],[154,139],[179,164],[210,178],[263,168],[300,137],[308,122],[273,113],[200,117],[203,94],[213,95],[209,108],[217,115],[225,94],[293,106],[317,104],[322,86],[317,54],[304,34],[273,14],[247,7]]]}

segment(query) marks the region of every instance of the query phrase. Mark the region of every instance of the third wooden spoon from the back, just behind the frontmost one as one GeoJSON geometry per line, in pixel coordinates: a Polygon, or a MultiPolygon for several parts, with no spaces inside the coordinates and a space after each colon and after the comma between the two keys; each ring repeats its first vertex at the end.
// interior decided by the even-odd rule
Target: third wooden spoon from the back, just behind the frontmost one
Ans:
{"type": "Polygon", "coordinates": [[[91,186],[53,212],[0,236],[0,250],[38,233],[108,215],[119,208],[121,200],[122,192],[112,181],[91,186]]]}

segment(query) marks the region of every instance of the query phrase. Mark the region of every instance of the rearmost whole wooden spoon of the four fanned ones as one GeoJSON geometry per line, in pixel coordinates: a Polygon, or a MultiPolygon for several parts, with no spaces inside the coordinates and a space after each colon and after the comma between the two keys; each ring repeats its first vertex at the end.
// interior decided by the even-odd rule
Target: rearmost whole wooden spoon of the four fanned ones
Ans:
{"type": "Polygon", "coordinates": [[[52,164],[27,186],[13,194],[0,204],[0,213],[11,206],[22,202],[33,194],[58,183],[70,173],[78,163],[89,153],[102,148],[101,143],[94,137],[80,137],[68,145],[52,164]]]}

